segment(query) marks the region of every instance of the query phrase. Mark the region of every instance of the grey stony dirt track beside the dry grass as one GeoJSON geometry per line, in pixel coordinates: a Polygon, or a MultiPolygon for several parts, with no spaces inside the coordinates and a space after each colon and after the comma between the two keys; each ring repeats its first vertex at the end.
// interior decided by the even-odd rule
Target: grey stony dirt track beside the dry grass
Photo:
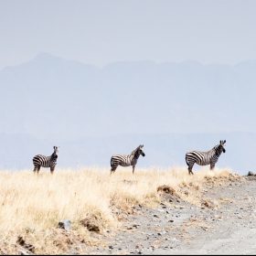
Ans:
{"type": "Polygon", "coordinates": [[[187,202],[141,208],[90,254],[255,254],[256,178],[206,189],[216,208],[187,202]]]}

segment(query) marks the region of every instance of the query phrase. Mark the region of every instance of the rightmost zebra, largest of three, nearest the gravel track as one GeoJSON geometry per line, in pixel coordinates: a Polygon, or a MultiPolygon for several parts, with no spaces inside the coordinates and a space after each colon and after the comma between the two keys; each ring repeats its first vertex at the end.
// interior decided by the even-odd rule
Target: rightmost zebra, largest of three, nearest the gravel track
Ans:
{"type": "Polygon", "coordinates": [[[192,172],[193,165],[210,165],[212,170],[215,167],[215,164],[218,162],[219,155],[225,153],[226,149],[224,148],[225,141],[220,141],[218,145],[213,147],[207,152],[191,151],[186,154],[186,162],[188,166],[188,174],[194,175],[192,172]]]}

